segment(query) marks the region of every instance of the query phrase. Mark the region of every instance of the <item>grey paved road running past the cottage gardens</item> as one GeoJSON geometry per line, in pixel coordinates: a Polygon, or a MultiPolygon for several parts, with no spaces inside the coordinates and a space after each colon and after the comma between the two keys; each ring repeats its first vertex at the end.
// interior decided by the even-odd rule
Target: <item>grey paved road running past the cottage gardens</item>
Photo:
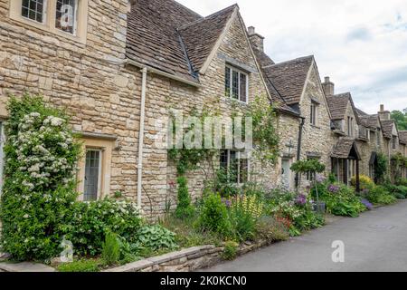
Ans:
{"type": "Polygon", "coordinates": [[[339,218],[205,271],[407,271],[407,200],[359,218],[339,218]],[[345,244],[344,263],[332,261],[336,240],[345,244]]]}

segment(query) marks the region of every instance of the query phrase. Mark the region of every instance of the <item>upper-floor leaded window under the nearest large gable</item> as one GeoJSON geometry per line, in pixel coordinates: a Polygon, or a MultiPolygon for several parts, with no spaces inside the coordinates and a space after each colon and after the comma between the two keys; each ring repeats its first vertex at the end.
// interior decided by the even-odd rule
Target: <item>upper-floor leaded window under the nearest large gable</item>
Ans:
{"type": "Polygon", "coordinates": [[[226,65],[224,86],[226,97],[240,102],[248,102],[249,76],[247,73],[226,65]]]}

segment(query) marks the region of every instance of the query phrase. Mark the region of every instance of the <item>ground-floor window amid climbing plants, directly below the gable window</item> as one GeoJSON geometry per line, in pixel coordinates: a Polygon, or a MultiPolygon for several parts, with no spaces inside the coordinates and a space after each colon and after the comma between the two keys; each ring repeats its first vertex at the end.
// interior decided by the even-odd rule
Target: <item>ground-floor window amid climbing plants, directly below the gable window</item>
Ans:
{"type": "Polygon", "coordinates": [[[228,179],[237,184],[249,180],[249,160],[237,150],[221,150],[220,165],[228,174],[228,179]]]}

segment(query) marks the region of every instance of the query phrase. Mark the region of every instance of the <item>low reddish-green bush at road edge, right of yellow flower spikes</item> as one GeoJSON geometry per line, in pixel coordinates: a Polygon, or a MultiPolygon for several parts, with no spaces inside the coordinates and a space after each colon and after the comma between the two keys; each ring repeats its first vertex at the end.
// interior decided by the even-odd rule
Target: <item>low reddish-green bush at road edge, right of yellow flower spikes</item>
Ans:
{"type": "Polygon", "coordinates": [[[285,241],[289,239],[289,227],[278,222],[276,218],[261,217],[256,222],[256,237],[270,242],[285,241]]]}

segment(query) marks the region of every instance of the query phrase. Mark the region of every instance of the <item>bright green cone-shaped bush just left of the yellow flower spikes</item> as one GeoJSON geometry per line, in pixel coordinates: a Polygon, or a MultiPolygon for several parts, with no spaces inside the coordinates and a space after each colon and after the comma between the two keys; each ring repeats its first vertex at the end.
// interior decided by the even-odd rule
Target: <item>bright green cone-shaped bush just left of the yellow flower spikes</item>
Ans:
{"type": "Polygon", "coordinates": [[[197,225],[204,230],[213,231],[223,237],[231,235],[232,225],[229,220],[228,209],[222,203],[219,194],[210,193],[204,198],[197,225]]]}

